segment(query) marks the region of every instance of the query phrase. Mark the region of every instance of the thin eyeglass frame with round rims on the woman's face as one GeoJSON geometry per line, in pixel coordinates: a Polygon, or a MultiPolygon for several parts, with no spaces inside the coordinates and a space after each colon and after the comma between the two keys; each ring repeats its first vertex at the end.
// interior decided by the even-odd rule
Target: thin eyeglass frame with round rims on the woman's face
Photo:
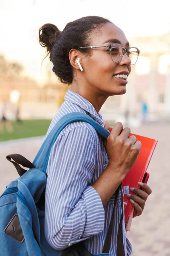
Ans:
{"type": "MultiPolygon", "coordinates": [[[[114,44],[105,44],[105,45],[96,45],[96,46],[93,46],[93,45],[92,45],[92,46],[79,47],[78,50],[79,50],[79,49],[82,49],[82,48],[91,48],[91,49],[94,49],[94,48],[110,47],[109,51],[111,52],[111,48],[112,48],[113,45],[120,45],[120,46],[122,47],[122,51],[123,51],[122,58],[123,58],[123,56],[124,56],[125,53],[126,53],[126,55],[128,54],[129,49],[131,49],[131,48],[135,48],[135,49],[137,50],[137,52],[138,52],[138,57],[139,57],[140,50],[139,50],[137,47],[129,47],[129,48],[127,49],[127,48],[124,48],[124,47],[122,46],[122,44],[118,44],[118,43],[114,43],[114,44]]],[[[129,58],[128,55],[127,55],[127,57],[129,58]]],[[[137,57],[137,60],[138,60],[138,57],[137,57]]],[[[120,61],[122,61],[122,58],[120,59],[120,61]]],[[[113,61],[112,58],[111,58],[111,60],[113,61]]],[[[136,62],[137,62],[137,60],[136,60],[136,62]]],[[[118,61],[118,62],[113,61],[113,62],[114,62],[114,63],[119,63],[120,61],[118,61]]],[[[134,64],[130,64],[130,65],[133,66],[133,65],[136,64],[136,62],[135,62],[134,64]]]]}

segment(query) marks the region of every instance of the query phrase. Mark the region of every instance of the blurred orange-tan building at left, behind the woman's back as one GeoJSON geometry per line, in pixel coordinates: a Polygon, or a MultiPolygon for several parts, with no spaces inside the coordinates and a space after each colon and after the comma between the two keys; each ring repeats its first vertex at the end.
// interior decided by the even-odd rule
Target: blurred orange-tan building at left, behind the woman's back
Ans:
{"type": "MultiPolygon", "coordinates": [[[[0,67],[4,67],[4,63],[6,67],[11,64],[3,57],[0,60],[3,61],[0,67]]],[[[61,86],[57,77],[48,69],[43,86],[11,70],[10,66],[0,72],[0,110],[6,105],[8,119],[15,119],[17,109],[20,110],[21,119],[51,119],[62,104],[67,88],[61,86]]]]}

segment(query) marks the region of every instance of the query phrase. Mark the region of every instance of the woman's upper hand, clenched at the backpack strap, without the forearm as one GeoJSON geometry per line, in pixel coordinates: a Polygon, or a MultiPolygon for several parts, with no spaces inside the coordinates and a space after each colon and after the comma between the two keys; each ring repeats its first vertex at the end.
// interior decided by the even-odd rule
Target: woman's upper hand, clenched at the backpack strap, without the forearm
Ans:
{"type": "MultiPolygon", "coordinates": [[[[105,128],[109,128],[109,125],[105,124],[105,128]]],[[[109,160],[108,167],[113,169],[113,175],[121,175],[122,180],[136,162],[142,145],[140,141],[136,141],[134,135],[129,136],[130,128],[123,129],[122,123],[117,122],[105,144],[109,160]]]]}

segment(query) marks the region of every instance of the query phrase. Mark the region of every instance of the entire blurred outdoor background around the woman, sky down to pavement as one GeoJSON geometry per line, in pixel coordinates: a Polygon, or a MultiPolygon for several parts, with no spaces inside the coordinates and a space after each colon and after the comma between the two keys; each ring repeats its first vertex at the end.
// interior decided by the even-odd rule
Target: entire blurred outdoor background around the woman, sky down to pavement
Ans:
{"type": "MultiPolygon", "coordinates": [[[[148,204],[145,215],[140,217],[141,221],[134,219],[130,231],[133,256],[170,256],[170,225],[167,224],[170,212],[167,209],[170,151],[164,148],[165,142],[166,147],[170,145],[167,140],[170,128],[160,125],[165,120],[170,121],[169,5],[168,0],[0,0],[0,119],[5,113],[8,121],[6,129],[5,122],[0,122],[0,141],[44,136],[68,90],[54,76],[48,58],[42,63],[45,49],[39,44],[38,30],[43,24],[54,23],[62,31],[72,20],[99,15],[119,26],[130,46],[140,49],[140,57],[128,78],[127,93],[110,97],[100,111],[103,119],[112,124],[121,121],[136,128],[136,133],[140,131],[144,136],[160,139],[155,158],[153,155],[153,166],[152,163],[150,165],[151,204],[148,204]],[[144,126],[144,130],[142,125],[145,122],[148,126],[144,126]],[[160,189],[158,182],[161,180],[164,186],[160,189]],[[152,253],[149,252],[151,246],[152,253]]],[[[31,139],[29,147],[23,147],[28,157],[30,152],[33,157],[41,140],[38,140],[37,147],[34,145],[33,148],[31,139]]],[[[36,139],[34,141],[36,143],[36,139]]],[[[9,152],[12,145],[21,153],[23,151],[21,144],[2,144],[2,170],[6,166],[3,151],[4,154],[9,152]]],[[[2,180],[8,184],[11,172],[3,175],[2,180]]]]}

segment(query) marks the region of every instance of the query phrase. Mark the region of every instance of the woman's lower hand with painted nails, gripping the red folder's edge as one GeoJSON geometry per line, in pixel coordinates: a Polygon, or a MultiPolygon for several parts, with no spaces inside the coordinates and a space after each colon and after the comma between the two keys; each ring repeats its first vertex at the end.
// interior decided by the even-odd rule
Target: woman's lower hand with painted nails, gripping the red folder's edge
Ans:
{"type": "Polygon", "coordinates": [[[142,187],[142,189],[144,189],[144,191],[138,188],[130,188],[130,191],[136,195],[127,194],[127,198],[130,199],[131,204],[136,210],[135,217],[142,214],[148,195],[152,193],[150,186],[148,186],[146,183],[138,182],[138,184],[140,187],[142,187]]]}

